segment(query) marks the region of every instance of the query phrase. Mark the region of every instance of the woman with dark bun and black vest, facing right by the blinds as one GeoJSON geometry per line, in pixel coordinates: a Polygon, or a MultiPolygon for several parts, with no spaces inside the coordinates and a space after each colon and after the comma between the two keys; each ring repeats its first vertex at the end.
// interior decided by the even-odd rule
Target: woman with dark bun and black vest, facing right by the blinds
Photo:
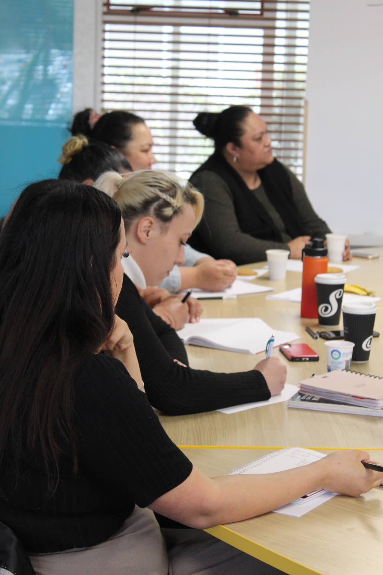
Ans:
{"type": "MultiPolygon", "coordinates": [[[[266,124],[251,108],[203,112],[193,123],[215,146],[190,178],[205,198],[204,218],[190,240],[196,250],[237,264],[265,260],[273,248],[300,259],[310,237],[331,231],[301,182],[273,157],[266,124]]],[[[348,240],[343,259],[351,259],[348,240]]]]}

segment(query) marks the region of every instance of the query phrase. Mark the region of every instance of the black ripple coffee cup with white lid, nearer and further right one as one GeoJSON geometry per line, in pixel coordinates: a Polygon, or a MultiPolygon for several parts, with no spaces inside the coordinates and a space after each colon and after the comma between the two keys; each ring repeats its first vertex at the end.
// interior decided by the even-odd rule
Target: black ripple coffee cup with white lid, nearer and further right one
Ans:
{"type": "Polygon", "coordinates": [[[369,361],[375,316],[376,305],[373,302],[343,305],[345,339],[355,344],[351,361],[369,361]]]}

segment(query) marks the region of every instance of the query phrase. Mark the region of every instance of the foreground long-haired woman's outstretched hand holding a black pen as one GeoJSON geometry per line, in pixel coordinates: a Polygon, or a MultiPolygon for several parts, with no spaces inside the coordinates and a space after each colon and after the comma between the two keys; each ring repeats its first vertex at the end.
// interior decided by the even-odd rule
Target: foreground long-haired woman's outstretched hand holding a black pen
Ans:
{"type": "Polygon", "coordinates": [[[358,497],[383,481],[383,473],[363,466],[362,461],[366,459],[370,459],[366,451],[350,449],[334,451],[311,465],[317,466],[323,478],[320,482],[322,489],[358,497]]]}

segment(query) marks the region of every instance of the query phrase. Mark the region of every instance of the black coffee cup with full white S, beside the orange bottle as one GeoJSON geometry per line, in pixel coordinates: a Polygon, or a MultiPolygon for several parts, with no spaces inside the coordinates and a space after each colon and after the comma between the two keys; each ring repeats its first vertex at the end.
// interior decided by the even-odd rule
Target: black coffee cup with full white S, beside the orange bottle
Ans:
{"type": "Polygon", "coordinates": [[[345,274],[318,274],[315,276],[319,325],[336,327],[339,324],[345,283],[345,274]]]}

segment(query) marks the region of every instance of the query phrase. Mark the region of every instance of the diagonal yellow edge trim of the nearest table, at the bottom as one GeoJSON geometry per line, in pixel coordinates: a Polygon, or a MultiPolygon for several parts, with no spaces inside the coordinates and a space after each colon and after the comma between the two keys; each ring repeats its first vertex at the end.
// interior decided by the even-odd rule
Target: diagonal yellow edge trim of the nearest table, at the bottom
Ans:
{"type": "Polygon", "coordinates": [[[260,545],[260,543],[256,543],[243,535],[239,535],[229,527],[219,525],[217,527],[210,527],[204,531],[213,535],[217,539],[228,543],[232,547],[243,551],[243,553],[252,555],[252,557],[260,559],[260,561],[263,561],[276,569],[280,569],[284,573],[288,573],[288,575],[307,575],[309,573],[320,575],[319,571],[315,571],[310,567],[301,565],[301,563],[298,563],[293,559],[289,559],[288,557],[285,557],[285,555],[277,553],[277,551],[272,551],[268,549],[268,547],[260,545]]]}

